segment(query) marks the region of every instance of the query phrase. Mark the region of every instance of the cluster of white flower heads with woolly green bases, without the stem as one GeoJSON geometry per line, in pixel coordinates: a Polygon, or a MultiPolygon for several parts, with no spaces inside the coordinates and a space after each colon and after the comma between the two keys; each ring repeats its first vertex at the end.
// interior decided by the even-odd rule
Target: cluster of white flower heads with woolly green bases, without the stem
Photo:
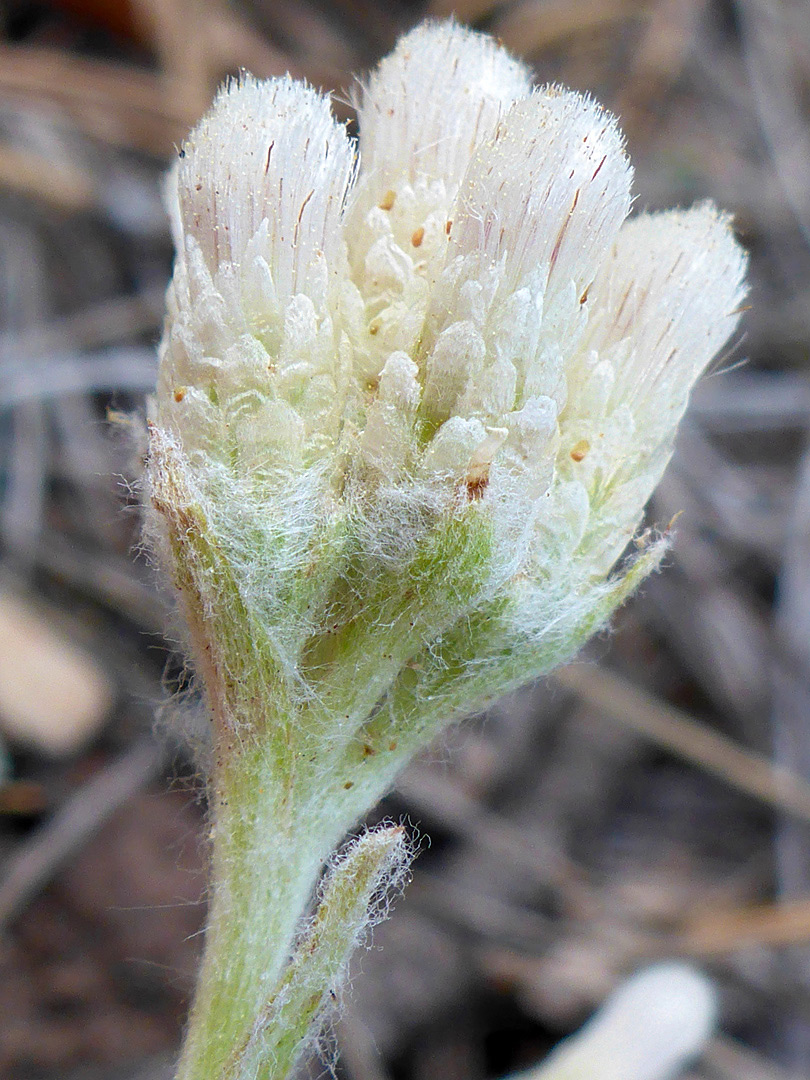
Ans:
{"type": "Polygon", "coordinates": [[[745,258],[707,204],[627,220],[615,119],[456,24],[357,111],[355,146],[243,78],[186,143],[152,484],[183,473],[285,684],[365,720],[548,669],[654,563],[610,576],[745,258]]]}

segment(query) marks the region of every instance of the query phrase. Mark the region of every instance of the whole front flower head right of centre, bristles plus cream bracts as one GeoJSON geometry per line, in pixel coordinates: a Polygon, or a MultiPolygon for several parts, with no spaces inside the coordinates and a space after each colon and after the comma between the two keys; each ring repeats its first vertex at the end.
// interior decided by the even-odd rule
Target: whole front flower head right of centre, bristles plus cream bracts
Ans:
{"type": "Polygon", "coordinates": [[[616,121],[578,94],[536,91],[473,157],[429,310],[424,408],[559,407],[585,327],[582,299],[630,210],[631,167],[616,121]]]}

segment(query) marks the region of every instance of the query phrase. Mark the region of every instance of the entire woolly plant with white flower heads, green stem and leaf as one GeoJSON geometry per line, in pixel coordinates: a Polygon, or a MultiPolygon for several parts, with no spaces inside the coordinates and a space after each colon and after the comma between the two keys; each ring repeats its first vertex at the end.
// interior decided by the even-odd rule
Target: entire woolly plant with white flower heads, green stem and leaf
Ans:
{"type": "Polygon", "coordinates": [[[289,1072],[399,840],[301,936],[329,851],[657,564],[621,556],[743,293],[724,216],[626,221],[612,117],[486,37],[417,28],[357,112],[355,144],[302,83],[231,82],[168,184],[150,528],[216,823],[180,1080],[289,1072]]]}

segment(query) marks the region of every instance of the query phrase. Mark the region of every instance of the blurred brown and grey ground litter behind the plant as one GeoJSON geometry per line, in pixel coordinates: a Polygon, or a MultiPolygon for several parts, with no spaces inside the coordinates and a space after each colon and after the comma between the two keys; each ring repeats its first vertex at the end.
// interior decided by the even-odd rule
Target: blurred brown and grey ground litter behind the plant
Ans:
{"type": "Polygon", "coordinates": [[[205,807],[126,419],[172,265],[161,176],[226,75],[289,70],[348,117],[355,76],[451,12],[619,114],[637,208],[732,211],[751,310],[650,508],[679,514],[665,570],[380,809],[421,853],[355,964],[339,1075],[503,1076],[685,957],[721,1000],[691,1080],[810,1076],[807,0],[5,0],[4,1080],[171,1077],[200,949],[205,807]]]}

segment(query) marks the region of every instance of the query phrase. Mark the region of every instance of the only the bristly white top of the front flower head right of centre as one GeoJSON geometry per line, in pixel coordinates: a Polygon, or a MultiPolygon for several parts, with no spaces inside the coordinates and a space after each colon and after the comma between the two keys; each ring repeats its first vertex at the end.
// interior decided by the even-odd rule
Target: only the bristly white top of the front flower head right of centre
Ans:
{"type": "Polygon", "coordinates": [[[630,211],[632,170],[616,120],[558,87],[517,102],[467,170],[450,257],[476,253],[480,269],[503,262],[501,288],[536,274],[550,291],[581,292],[630,211]]]}

